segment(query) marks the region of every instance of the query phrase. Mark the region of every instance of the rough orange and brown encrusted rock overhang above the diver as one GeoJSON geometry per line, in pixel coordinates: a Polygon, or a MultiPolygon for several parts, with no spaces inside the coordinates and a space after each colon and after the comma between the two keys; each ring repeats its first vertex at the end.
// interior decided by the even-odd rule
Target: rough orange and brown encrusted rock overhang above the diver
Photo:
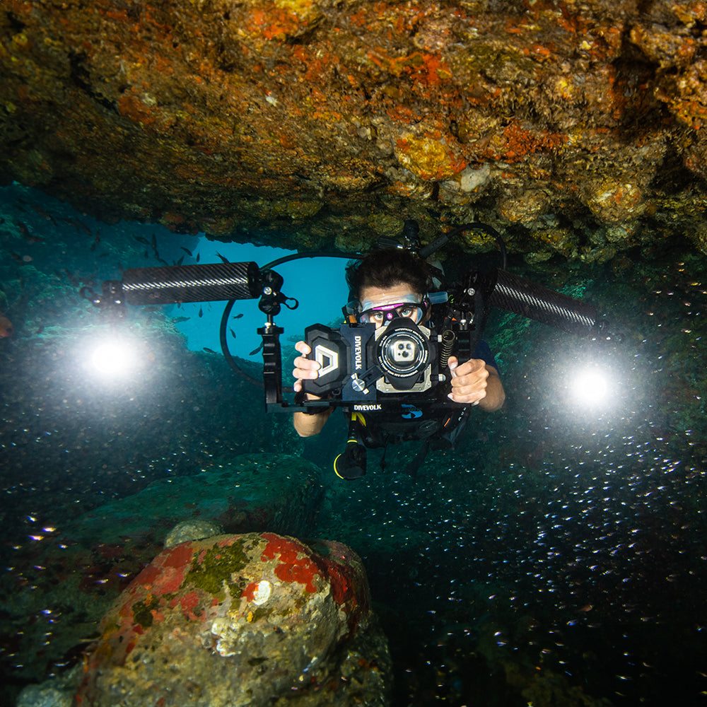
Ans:
{"type": "Polygon", "coordinates": [[[0,181],[300,249],[707,252],[706,43],[691,0],[5,0],[0,181]]]}

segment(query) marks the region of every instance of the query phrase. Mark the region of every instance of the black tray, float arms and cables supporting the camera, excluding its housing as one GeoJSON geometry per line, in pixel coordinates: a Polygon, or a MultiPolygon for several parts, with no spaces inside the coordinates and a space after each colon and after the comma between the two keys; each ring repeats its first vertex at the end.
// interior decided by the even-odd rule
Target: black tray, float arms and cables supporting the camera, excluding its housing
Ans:
{"type": "MultiPolygon", "coordinates": [[[[464,230],[481,230],[491,235],[501,251],[500,269],[484,272],[470,270],[459,283],[448,288],[448,303],[443,325],[438,333],[440,342],[440,370],[452,353],[460,360],[470,358],[486,326],[489,311],[500,307],[524,317],[537,320],[566,332],[580,336],[598,337],[605,328],[603,319],[590,304],[544,288],[527,279],[506,271],[506,247],[501,235],[484,223],[467,223],[457,226],[426,246],[421,246],[419,228],[415,221],[406,221],[402,233],[404,245],[395,240],[382,240],[379,247],[399,247],[427,258],[443,247],[450,238],[464,230]]],[[[174,265],[151,268],[133,268],[123,271],[121,281],[103,282],[100,294],[84,287],[81,296],[94,306],[115,317],[124,315],[124,305],[162,305],[184,302],[228,300],[223,310],[220,326],[221,350],[228,365],[250,382],[264,387],[264,402],[268,412],[311,411],[321,407],[351,407],[351,402],[341,399],[321,399],[296,404],[284,397],[282,385],[282,356],[280,334],[284,329],[275,325],[274,317],[282,306],[296,309],[298,301],[282,292],[283,277],[273,268],[296,259],[337,257],[348,260],[361,259],[360,253],[311,252],[296,253],[276,259],[259,267],[255,262],[211,263],[174,265]],[[267,315],[267,322],[257,329],[262,337],[262,383],[252,378],[230,354],[226,339],[228,319],[236,300],[259,298],[258,308],[267,315]],[[292,303],[292,304],[290,304],[292,303]]],[[[350,323],[350,326],[356,326],[350,323]]],[[[423,395],[423,394],[416,394],[423,395]]],[[[385,400],[400,402],[409,394],[385,394],[385,400]]]]}

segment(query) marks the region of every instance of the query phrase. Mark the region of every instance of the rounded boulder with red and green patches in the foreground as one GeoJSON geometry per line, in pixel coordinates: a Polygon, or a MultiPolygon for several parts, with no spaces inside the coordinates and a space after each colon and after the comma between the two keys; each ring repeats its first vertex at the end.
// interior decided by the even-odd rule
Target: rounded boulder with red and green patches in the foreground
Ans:
{"type": "Polygon", "coordinates": [[[338,542],[219,535],[165,549],[122,593],[78,705],[387,704],[366,573],[338,542]]]}

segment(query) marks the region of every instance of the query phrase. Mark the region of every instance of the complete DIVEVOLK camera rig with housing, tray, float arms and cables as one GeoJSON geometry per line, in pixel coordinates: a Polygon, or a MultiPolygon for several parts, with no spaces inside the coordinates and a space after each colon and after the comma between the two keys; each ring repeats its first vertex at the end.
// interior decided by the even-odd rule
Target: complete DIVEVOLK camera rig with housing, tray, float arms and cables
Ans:
{"type": "MultiPolygon", "coordinates": [[[[605,322],[589,303],[544,288],[505,270],[506,249],[501,236],[484,223],[466,223],[424,247],[417,224],[407,221],[405,245],[392,242],[382,247],[400,247],[426,259],[457,233],[481,230],[496,239],[501,250],[501,268],[484,272],[469,270],[452,288],[439,329],[416,325],[398,317],[386,327],[356,324],[349,320],[339,329],[314,325],[305,330],[313,356],[322,366],[316,380],[303,380],[303,390],[316,400],[288,402],[283,395],[279,337],[274,323],[282,306],[294,309],[296,299],[282,292],[283,278],[272,268],[300,258],[337,257],[361,259],[363,255],[342,252],[314,252],[288,255],[262,267],[255,262],[173,264],[165,267],[133,268],[123,271],[121,281],[104,281],[100,293],[81,288],[81,296],[114,319],[122,318],[125,305],[228,300],[221,318],[221,349],[228,364],[241,376],[264,387],[269,412],[317,411],[322,407],[354,407],[368,401],[398,403],[409,395],[419,401],[437,397],[435,388],[448,380],[442,371],[453,353],[460,361],[471,358],[484,332],[491,308],[506,309],[579,336],[596,337],[605,322]],[[258,308],[267,321],[257,329],[262,337],[262,382],[245,373],[228,351],[228,317],[236,300],[259,298],[258,308]]],[[[440,271],[440,275],[443,274],[440,271]]],[[[603,335],[603,334],[602,334],[603,335]]]]}

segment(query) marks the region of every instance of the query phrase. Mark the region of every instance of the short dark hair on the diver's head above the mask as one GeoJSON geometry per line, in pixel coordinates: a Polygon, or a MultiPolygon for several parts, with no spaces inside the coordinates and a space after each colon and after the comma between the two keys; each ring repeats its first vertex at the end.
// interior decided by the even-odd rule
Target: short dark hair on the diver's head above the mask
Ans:
{"type": "Polygon", "coordinates": [[[432,276],[427,263],[409,250],[387,248],[374,250],[346,267],[346,282],[351,296],[358,300],[363,288],[388,288],[402,284],[423,295],[432,287],[432,276]]]}

